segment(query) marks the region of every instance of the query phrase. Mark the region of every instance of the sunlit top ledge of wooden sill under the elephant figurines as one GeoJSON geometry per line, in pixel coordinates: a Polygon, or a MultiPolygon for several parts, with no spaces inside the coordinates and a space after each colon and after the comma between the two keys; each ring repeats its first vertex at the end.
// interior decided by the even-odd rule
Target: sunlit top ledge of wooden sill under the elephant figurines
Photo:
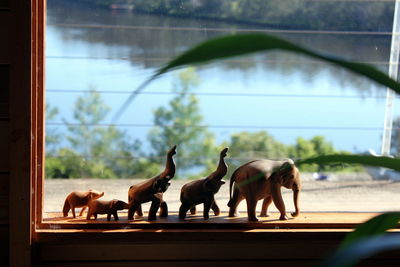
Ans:
{"type": "MultiPolygon", "coordinates": [[[[43,222],[38,231],[62,231],[71,230],[290,230],[290,229],[351,229],[358,224],[378,215],[379,213],[365,212],[305,212],[297,218],[289,218],[287,221],[278,220],[279,214],[272,213],[270,217],[259,217],[258,222],[248,222],[245,213],[240,217],[229,218],[227,213],[220,216],[210,216],[204,220],[202,214],[189,215],[184,221],[180,220],[177,212],[170,212],[168,218],[158,218],[156,221],[147,221],[147,214],[127,220],[127,213],[120,212],[119,220],[106,220],[106,215],[99,215],[97,220],[86,220],[84,216],[72,218],[62,217],[61,213],[45,213],[43,222]]],[[[290,215],[289,215],[290,217],[290,215]]]]}

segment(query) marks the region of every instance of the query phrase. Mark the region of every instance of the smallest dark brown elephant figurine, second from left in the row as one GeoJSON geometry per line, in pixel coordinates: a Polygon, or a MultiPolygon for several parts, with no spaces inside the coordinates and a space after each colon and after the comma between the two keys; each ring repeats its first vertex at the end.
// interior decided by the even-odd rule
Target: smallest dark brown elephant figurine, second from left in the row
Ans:
{"type": "Polygon", "coordinates": [[[114,220],[118,221],[118,211],[128,209],[128,203],[122,200],[92,200],[89,202],[89,211],[86,216],[87,220],[94,216],[97,219],[97,214],[107,214],[107,221],[111,220],[111,215],[114,216],[114,220]]]}

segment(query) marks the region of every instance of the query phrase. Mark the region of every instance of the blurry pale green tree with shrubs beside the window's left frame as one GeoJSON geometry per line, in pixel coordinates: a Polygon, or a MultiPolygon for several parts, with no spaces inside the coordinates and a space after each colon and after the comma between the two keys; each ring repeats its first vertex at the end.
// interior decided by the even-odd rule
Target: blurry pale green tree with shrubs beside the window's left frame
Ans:
{"type": "Polygon", "coordinates": [[[49,178],[148,177],[160,166],[140,153],[140,143],[132,142],[125,131],[102,126],[110,108],[101,95],[90,90],[75,102],[74,123],[67,124],[68,148],[59,149],[46,162],[49,178]]]}

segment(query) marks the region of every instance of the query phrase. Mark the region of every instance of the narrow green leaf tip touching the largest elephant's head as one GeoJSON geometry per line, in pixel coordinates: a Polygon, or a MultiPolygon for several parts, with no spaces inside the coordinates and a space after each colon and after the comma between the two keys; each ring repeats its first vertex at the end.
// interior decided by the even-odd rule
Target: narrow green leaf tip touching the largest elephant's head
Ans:
{"type": "Polygon", "coordinates": [[[400,159],[390,157],[375,157],[366,155],[334,154],[323,155],[296,162],[297,166],[302,164],[327,164],[327,163],[350,163],[363,164],[368,166],[383,167],[400,172],[400,159]]]}

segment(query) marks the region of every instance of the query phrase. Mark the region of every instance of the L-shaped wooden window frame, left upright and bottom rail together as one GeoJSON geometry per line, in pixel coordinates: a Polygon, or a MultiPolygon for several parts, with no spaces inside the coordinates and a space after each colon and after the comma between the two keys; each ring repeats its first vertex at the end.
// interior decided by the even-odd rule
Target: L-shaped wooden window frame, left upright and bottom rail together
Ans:
{"type": "MultiPolygon", "coordinates": [[[[336,248],[350,228],[43,229],[46,0],[10,1],[14,31],[10,91],[10,266],[307,264],[336,248]],[[13,16],[15,15],[15,16],[13,16]],[[305,242],[307,245],[305,245],[305,242]],[[288,253],[290,252],[290,253],[288,253]]],[[[246,224],[248,225],[248,224],[246,224]]],[[[7,250],[7,248],[5,248],[7,250]]],[[[7,253],[7,252],[6,252],[7,253]]],[[[378,258],[382,259],[382,257],[378,258]]],[[[399,254],[384,257],[397,262],[399,254]]]]}

